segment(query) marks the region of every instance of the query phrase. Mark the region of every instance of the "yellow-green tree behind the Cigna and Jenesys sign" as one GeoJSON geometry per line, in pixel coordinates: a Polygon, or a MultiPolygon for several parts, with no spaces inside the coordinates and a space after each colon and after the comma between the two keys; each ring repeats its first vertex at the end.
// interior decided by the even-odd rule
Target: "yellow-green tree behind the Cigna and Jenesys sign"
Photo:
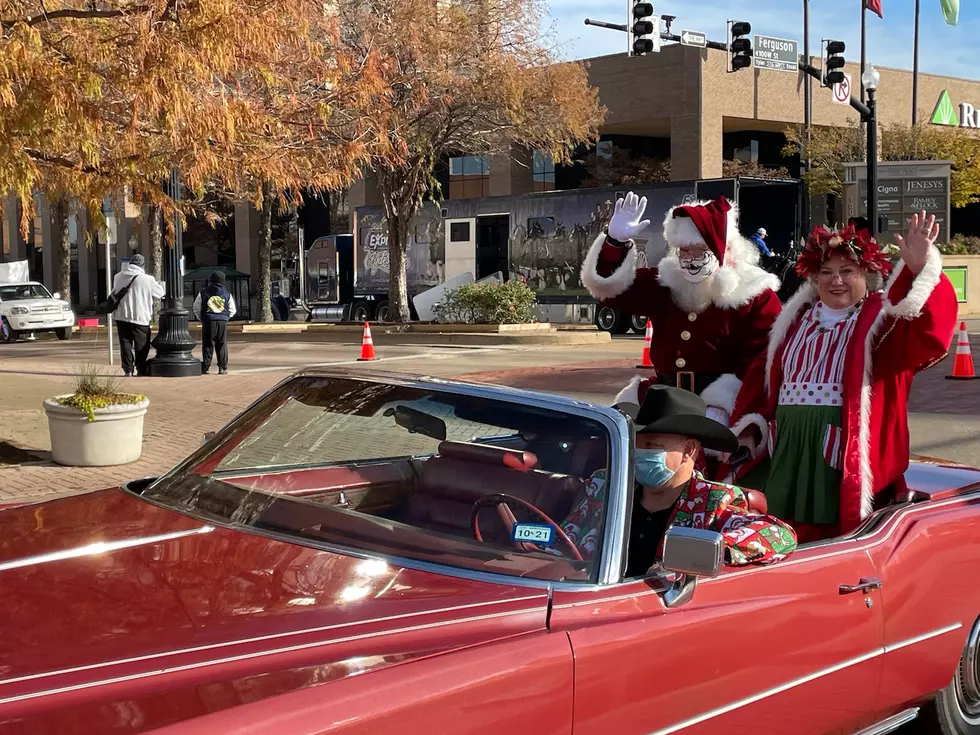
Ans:
{"type": "MultiPolygon", "coordinates": [[[[786,132],[784,155],[799,154],[805,145],[801,127],[786,132]]],[[[980,138],[959,128],[895,123],[883,127],[883,161],[952,161],[950,201],[963,207],[980,201],[980,138]]],[[[821,196],[844,192],[844,164],[863,161],[866,138],[857,124],[846,127],[813,128],[809,156],[811,170],[804,175],[810,194],[821,196]]]]}

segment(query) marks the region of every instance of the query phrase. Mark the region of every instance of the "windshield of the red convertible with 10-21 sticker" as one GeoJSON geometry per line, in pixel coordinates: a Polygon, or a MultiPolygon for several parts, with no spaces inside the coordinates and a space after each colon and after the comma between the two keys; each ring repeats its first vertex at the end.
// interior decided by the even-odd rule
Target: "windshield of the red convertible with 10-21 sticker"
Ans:
{"type": "Polygon", "coordinates": [[[341,551],[592,580],[609,456],[574,409],[300,376],[143,495],[341,551]]]}

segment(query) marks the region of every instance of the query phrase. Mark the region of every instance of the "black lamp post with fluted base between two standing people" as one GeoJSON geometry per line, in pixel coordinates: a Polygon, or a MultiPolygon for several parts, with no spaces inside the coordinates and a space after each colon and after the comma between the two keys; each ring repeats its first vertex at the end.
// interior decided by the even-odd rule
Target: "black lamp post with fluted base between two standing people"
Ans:
{"type": "MultiPolygon", "coordinates": [[[[180,179],[176,170],[166,184],[170,197],[180,201],[180,179]]],[[[150,375],[160,378],[184,378],[201,374],[201,361],[191,354],[197,341],[188,329],[189,314],[184,308],[184,278],[180,273],[180,256],[184,252],[184,230],[179,215],[174,215],[174,240],[163,249],[163,277],[167,282],[166,301],[160,312],[160,328],[151,344],[156,357],[149,360],[150,375]]]]}

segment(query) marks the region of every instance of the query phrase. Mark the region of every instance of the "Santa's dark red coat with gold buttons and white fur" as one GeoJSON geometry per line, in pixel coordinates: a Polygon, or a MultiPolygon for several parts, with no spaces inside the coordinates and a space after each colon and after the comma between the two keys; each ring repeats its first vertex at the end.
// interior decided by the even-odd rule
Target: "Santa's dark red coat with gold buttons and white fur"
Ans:
{"type": "MultiPolygon", "coordinates": [[[[696,231],[678,232],[684,227],[693,230],[689,220],[673,222],[672,229],[665,227],[671,245],[700,239],[696,231]]],[[[582,267],[582,282],[599,303],[646,316],[653,323],[650,359],[658,373],[720,375],[700,395],[708,406],[726,414],[735,407],[749,367],[765,353],[769,330],[781,308],[776,295],[779,279],[752,262],[751,252],[740,247],[743,243],[733,241],[743,239],[737,230],[734,233],[729,236],[725,265],[708,294],[694,293],[681,275],[676,255],[667,255],[657,268],[638,268],[636,249],[610,243],[605,235],[596,239],[582,267]]],[[[617,400],[637,403],[632,395],[637,383],[617,400]]]]}

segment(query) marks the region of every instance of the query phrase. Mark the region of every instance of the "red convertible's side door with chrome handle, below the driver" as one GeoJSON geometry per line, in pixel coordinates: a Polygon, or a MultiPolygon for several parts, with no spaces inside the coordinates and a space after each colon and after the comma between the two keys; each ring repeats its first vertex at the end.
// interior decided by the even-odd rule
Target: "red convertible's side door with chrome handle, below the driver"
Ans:
{"type": "Polygon", "coordinates": [[[871,722],[880,590],[852,541],[728,568],[674,608],[639,580],[558,590],[551,626],[575,656],[575,732],[851,733],[871,722]]]}

